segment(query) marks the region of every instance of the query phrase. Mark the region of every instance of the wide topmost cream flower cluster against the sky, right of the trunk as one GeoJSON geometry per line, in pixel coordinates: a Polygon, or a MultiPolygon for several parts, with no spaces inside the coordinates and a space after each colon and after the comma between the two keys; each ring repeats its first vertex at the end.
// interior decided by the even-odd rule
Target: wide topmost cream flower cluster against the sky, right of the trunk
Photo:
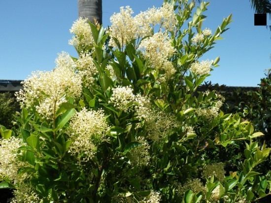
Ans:
{"type": "MultiPolygon", "coordinates": [[[[169,3],[164,3],[160,8],[153,7],[140,12],[135,17],[132,16],[133,13],[133,10],[126,6],[120,8],[120,13],[114,13],[110,17],[110,35],[120,42],[121,47],[132,39],[151,35],[155,25],[159,24],[161,28],[172,31],[177,24],[173,5],[169,3]]],[[[109,44],[116,46],[113,38],[109,44]]]]}

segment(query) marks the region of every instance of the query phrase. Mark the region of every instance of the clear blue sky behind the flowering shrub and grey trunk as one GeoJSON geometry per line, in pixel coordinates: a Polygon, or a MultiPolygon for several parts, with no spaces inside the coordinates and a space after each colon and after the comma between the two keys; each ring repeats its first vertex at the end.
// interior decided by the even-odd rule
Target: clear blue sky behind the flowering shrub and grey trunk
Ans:
{"type": "MultiPolygon", "coordinates": [[[[103,25],[120,6],[135,14],[163,0],[103,0],[103,25]]],[[[255,27],[249,0],[211,0],[203,28],[214,31],[224,17],[233,14],[230,30],[203,59],[220,56],[220,67],[207,78],[228,86],[257,86],[264,70],[271,68],[271,31],[255,27]]],[[[54,68],[57,53],[76,56],[69,28],[77,19],[77,0],[0,1],[0,79],[25,79],[34,70],[54,68]]],[[[270,19],[268,24],[271,25],[270,19]]]]}

